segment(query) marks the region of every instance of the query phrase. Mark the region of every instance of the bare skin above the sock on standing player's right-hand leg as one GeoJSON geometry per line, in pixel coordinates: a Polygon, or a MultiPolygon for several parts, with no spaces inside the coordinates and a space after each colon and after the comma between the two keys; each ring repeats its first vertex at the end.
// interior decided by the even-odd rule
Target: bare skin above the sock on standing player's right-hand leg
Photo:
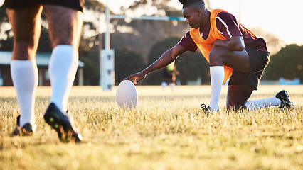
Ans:
{"type": "Polygon", "coordinates": [[[55,5],[45,5],[44,9],[48,18],[48,31],[53,47],[71,45],[78,49],[83,13],[72,8],[55,5]]]}

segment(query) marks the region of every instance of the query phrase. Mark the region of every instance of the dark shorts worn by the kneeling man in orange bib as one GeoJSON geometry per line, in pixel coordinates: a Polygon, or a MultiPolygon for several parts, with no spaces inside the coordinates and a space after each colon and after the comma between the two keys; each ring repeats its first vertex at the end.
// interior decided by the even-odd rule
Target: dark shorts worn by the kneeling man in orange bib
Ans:
{"type": "Polygon", "coordinates": [[[264,69],[270,62],[270,52],[259,51],[251,47],[245,47],[245,50],[250,57],[250,72],[243,73],[233,69],[228,85],[250,85],[257,90],[264,69]]]}

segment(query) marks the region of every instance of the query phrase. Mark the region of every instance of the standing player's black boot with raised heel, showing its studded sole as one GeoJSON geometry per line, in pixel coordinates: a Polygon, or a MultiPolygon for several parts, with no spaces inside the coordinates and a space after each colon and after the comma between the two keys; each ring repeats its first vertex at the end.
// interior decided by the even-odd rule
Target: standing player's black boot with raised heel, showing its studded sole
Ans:
{"type": "Polygon", "coordinates": [[[68,113],[62,113],[54,103],[50,103],[46,109],[44,120],[50,128],[53,128],[57,133],[61,142],[81,142],[83,137],[75,128],[73,118],[68,113]]]}

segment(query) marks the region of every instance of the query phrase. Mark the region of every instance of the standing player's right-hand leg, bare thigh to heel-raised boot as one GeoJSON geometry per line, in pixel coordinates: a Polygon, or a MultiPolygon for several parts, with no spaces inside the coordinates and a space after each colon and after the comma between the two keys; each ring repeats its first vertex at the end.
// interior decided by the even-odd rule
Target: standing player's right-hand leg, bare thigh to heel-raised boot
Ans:
{"type": "Polygon", "coordinates": [[[78,47],[83,13],[73,8],[55,5],[45,5],[45,11],[53,45],[48,67],[53,92],[44,118],[58,132],[60,140],[80,142],[82,137],[73,125],[73,120],[67,114],[67,110],[70,89],[78,68],[78,47]],[[53,114],[60,115],[59,120],[56,120],[57,117],[53,114]]]}

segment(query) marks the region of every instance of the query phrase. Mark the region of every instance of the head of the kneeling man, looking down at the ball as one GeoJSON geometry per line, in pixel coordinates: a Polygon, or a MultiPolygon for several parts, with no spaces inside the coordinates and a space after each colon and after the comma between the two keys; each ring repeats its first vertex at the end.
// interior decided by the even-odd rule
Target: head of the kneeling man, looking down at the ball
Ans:
{"type": "Polygon", "coordinates": [[[192,28],[199,28],[203,26],[206,17],[206,8],[203,0],[179,0],[183,4],[183,15],[186,18],[186,22],[192,28]]]}

